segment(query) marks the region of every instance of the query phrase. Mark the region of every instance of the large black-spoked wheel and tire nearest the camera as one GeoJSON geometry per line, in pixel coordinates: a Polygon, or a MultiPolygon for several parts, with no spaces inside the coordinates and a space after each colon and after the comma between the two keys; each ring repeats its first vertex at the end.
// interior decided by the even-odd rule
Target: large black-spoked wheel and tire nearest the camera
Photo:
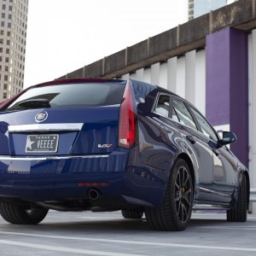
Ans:
{"type": "Polygon", "coordinates": [[[182,231],[189,224],[193,207],[193,183],[189,166],[179,159],[172,168],[160,207],[147,208],[145,216],[154,230],[182,231]]]}

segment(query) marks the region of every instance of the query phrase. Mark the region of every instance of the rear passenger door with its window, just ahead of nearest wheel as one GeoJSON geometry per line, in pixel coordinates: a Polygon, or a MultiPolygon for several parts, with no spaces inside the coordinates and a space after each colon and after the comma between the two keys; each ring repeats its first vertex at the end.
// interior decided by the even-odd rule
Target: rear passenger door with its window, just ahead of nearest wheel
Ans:
{"type": "Polygon", "coordinates": [[[188,143],[192,154],[195,155],[197,166],[197,170],[195,170],[195,200],[212,201],[213,153],[208,139],[201,131],[198,131],[199,127],[195,118],[180,98],[173,98],[172,119],[177,120],[177,128],[184,141],[188,143]]]}

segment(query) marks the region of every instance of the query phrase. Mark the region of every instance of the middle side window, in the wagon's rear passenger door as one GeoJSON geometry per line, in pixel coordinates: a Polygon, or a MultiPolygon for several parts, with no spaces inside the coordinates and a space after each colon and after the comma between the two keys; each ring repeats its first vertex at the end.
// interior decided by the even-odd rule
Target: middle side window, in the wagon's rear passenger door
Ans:
{"type": "Polygon", "coordinates": [[[183,102],[173,100],[173,108],[175,111],[173,111],[173,113],[177,114],[177,119],[181,124],[187,125],[190,128],[197,130],[195,121],[189,113],[189,109],[185,106],[183,102]]]}

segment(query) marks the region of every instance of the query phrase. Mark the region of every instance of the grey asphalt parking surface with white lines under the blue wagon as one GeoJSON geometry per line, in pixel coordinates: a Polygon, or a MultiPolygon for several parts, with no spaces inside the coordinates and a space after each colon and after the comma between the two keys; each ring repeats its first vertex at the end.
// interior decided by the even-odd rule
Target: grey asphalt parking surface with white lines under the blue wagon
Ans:
{"type": "Polygon", "coordinates": [[[220,212],[195,212],[187,230],[154,231],[120,212],[49,212],[41,224],[0,218],[1,255],[256,255],[256,215],[227,223],[220,212]]]}

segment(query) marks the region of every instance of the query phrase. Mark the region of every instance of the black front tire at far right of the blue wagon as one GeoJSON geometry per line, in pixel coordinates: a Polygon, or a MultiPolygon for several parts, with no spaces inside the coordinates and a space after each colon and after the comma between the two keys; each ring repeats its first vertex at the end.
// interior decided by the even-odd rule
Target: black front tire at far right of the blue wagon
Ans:
{"type": "Polygon", "coordinates": [[[227,210],[227,221],[247,221],[247,179],[244,175],[241,178],[241,186],[238,193],[236,208],[227,210]]]}

